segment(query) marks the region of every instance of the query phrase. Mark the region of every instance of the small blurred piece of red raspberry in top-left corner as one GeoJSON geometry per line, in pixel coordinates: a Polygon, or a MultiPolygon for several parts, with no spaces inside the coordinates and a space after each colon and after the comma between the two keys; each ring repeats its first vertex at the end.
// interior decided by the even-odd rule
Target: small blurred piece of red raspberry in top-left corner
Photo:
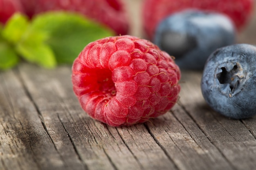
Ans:
{"type": "Polygon", "coordinates": [[[19,0],[0,0],[0,22],[5,24],[15,12],[22,12],[19,0]]]}

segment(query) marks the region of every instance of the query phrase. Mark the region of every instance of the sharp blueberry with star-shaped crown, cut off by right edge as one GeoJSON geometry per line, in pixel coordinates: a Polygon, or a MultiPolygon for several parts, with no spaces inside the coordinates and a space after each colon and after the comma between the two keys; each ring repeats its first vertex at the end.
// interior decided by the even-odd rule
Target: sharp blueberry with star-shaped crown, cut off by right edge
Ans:
{"type": "Polygon", "coordinates": [[[214,51],[205,64],[201,90],[209,106],[222,115],[256,115],[256,46],[233,44],[214,51]]]}

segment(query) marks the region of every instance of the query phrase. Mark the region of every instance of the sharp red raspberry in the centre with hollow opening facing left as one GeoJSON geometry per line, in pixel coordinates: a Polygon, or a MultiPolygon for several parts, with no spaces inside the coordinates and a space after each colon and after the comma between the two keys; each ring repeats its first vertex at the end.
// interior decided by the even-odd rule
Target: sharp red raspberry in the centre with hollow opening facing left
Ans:
{"type": "Polygon", "coordinates": [[[163,115],[177,102],[179,80],[180,69],[166,52],[130,35],[91,42],[72,66],[81,107],[110,126],[163,115]]]}

